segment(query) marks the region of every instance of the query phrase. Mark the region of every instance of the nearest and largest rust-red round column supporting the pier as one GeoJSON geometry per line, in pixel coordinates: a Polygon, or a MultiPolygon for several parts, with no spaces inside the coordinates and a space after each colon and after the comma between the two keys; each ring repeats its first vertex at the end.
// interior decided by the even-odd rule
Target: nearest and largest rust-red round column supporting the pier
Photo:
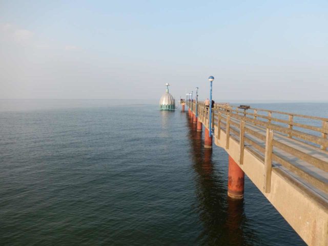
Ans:
{"type": "Polygon", "coordinates": [[[233,199],[244,197],[244,178],[245,173],[239,168],[238,164],[229,155],[228,169],[228,196],[233,199]]]}

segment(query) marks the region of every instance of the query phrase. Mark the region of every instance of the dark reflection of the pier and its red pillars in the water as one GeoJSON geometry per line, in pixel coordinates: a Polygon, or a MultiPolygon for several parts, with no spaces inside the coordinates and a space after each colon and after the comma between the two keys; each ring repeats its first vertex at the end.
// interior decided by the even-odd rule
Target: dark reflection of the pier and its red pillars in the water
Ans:
{"type": "MultiPolygon", "coordinates": [[[[197,203],[193,204],[199,214],[202,232],[197,243],[209,245],[251,245],[254,233],[243,231],[245,221],[243,200],[232,200],[227,196],[226,173],[215,169],[212,149],[204,148],[202,133],[188,117],[190,151],[195,170],[197,203]]],[[[216,163],[220,165],[220,163],[216,163]]],[[[227,170],[228,171],[228,170],[227,170]]],[[[256,240],[255,240],[256,241],[256,240]]]]}

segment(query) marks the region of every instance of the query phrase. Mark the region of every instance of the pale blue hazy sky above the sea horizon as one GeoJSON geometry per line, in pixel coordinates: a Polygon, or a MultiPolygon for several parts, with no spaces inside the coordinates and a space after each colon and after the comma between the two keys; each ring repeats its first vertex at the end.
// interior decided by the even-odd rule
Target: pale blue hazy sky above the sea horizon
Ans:
{"type": "Polygon", "coordinates": [[[328,100],[328,1],[0,0],[0,98],[328,100]]]}

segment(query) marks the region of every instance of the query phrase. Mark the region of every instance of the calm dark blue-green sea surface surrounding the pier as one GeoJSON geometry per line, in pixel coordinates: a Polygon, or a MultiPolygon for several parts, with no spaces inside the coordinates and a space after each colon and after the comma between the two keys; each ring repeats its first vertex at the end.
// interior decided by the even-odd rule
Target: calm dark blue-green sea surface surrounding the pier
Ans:
{"type": "Polygon", "coordinates": [[[247,177],[227,197],[228,155],[201,134],[155,104],[0,100],[0,244],[305,245],[247,177]]]}

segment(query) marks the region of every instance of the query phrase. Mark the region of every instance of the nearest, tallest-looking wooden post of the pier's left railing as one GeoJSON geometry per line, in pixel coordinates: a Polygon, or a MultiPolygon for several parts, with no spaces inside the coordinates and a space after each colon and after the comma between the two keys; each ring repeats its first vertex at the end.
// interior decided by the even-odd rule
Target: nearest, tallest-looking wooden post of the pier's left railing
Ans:
{"type": "Polygon", "coordinates": [[[267,137],[265,139],[265,157],[264,157],[264,192],[270,193],[271,190],[271,172],[272,172],[272,140],[273,130],[267,128],[267,137]]]}

